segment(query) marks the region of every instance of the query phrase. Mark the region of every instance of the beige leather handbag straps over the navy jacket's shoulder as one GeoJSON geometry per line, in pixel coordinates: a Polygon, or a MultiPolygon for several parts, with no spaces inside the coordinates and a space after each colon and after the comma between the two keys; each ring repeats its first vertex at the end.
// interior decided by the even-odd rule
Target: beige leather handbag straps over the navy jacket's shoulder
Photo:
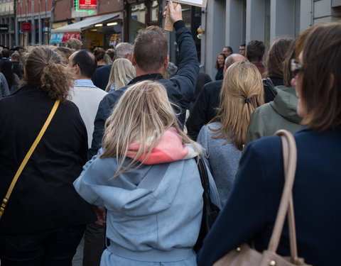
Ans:
{"type": "Polygon", "coordinates": [[[276,132],[276,135],[281,136],[282,150],[283,150],[283,169],[285,183],[281,196],[281,203],[279,204],[274,231],[272,232],[269,248],[271,252],[276,253],[278,248],[281,233],[283,231],[283,224],[288,214],[289,239],[291,250],[291,261],[298,262],[297,245],[296,245],[296,228],[295,218],[293,214],[293,182],[296,174],[297,164],[297,148],[293,134],[286,130],[276,132]]]}

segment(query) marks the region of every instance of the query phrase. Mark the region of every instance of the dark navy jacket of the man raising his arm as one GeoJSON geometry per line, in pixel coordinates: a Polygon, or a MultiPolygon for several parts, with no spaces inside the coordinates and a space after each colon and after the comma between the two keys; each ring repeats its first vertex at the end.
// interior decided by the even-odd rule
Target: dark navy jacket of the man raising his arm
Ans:
{"type": "Polygon", "coordinates": [[[176,31],[176,39],[180,52],[180,60],[178,71],[171,79],[164,79],[161,74],[145,74],[136,77],[129,82],[126,87],[118,89],[104,96],[99,103],[96,118],[94,119],[94,133],[92,134],[92,145],[87,155],[90,160],[93,155],[97,154],[97,150],[102,146],[102,138],[104,134],[104,123],[109,117],[116,102],[131,84],[142,80],[157,80],[166,87],[168,99],[180,107],[178,110],[178,120],[180,124],[185,123],[185,111],[188,109],[190,101],[193,99],[194,87],[199,71],[199,63],[197,61],[197,50],[195,43],[188,28],[185,28],[183,21],[174,23],[176,31]]]}

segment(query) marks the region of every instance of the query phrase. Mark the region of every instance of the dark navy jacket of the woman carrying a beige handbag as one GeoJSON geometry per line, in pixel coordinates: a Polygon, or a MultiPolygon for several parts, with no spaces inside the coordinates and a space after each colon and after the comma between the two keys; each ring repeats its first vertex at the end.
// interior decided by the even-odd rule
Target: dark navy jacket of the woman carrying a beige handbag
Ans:
{"type": "MultiPolygon", "coordinates": [[[[314,266],[339,265],[341,250],[341,129],[295,134],[298,148],[293,185],[299,257],[314,266]]],[[[257,250],[269,238],[283,189],[283,157],[278,136],[247,145],[227,204],[197,254],[197,265],[208,266],[238,245],[253,240],[257,250]]],[[[280,255],[289,255],[284,225],[280,255]]]]}

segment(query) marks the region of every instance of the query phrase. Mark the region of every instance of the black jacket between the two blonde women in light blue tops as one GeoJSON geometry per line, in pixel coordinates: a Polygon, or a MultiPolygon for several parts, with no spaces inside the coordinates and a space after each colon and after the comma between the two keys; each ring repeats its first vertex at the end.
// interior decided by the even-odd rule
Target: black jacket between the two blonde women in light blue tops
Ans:
{"type": "Polygon", "coordinates": [[[190,138],[197,140],[202,126],[207,124],[217,115],[217,108],[220,104],[220,90],[222,79],[216,82],[209,82],[202,88],[193,106],[190,116],[186,121],[187,132],[190,138]]]}

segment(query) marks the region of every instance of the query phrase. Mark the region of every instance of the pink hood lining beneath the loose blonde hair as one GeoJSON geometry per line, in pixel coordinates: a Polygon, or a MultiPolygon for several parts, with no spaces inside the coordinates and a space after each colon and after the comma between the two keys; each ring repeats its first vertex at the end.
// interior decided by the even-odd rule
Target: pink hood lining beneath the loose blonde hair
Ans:
{"type": "MultiPolygon", "coordinates": [[[[140,143],[133,142],[129,145],[127,157],[134,158],[139,150],[140,143]]],[[[147,154],[143,154],[139,157],[139,161],[142,162],[146,158],[147,154]]],[[[188,155],[188,146],[183,145],[183,137],[181,137],[175,128],[169,128],[165,131],[161,137],[160,143],[151,150],[146,165],[156,165],[163,162],[174,162],[182,160],[188,155]]]]}

